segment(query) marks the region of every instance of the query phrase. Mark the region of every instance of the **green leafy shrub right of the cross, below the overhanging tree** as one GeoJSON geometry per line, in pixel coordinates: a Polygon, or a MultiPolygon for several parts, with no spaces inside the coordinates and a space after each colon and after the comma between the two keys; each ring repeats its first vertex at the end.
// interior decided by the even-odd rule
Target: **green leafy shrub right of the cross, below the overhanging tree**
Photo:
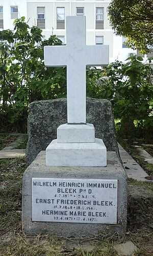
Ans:
{"type": "Polygon", "coordinates": [[[111,63],[104,68],[106,78],[98,82],[98,97],[111,100],[115,118],[121,120],[125,135],[135,133],[135,126],[141,130],[141,135],[149,135],[153,127],[153,84],[150,79],[153,71],[142,61],[142,57],[132,56],[125,64],[111,63]]]}

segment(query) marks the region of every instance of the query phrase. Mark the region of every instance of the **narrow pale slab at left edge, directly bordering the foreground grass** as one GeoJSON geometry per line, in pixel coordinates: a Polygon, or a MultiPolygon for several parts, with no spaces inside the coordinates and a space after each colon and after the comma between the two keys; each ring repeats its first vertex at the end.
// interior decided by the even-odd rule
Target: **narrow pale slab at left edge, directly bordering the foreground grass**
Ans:
{"type": "Polygon", "coordinates": [[[0,159],[16,158],[25,156],[25,149],[1,150],[0,159]]]}

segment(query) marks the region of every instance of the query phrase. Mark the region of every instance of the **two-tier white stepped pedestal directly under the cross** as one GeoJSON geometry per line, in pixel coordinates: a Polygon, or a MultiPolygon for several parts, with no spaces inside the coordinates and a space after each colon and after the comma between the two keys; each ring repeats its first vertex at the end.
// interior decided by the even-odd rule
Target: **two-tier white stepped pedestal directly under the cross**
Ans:
{"type": "Polygon", "coordinates": [[[107,149],[92,124],[64,124],[46,148],[46,166],[106,166],[107,149]]]}

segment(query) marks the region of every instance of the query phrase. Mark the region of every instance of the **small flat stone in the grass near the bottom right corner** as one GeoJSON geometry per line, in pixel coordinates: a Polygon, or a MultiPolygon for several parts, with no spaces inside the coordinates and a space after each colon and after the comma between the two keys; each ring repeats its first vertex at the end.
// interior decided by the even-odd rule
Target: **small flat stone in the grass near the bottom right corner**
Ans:
{"type": "Polygon", "coordinates": [[[114,249],[117,251],[119,256],[133,256],[138,248],[133,242],[129,241],[123,244],[114,245],[114,249]]]}

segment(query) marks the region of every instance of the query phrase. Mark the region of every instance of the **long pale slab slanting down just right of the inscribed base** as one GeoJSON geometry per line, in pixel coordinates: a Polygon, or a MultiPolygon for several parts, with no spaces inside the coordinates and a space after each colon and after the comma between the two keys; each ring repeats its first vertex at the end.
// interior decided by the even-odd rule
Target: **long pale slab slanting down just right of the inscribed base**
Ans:
{"type": "Polygon", "coordinates": [[[138,181],[148,181],[145,177],[148,174],[142,169],[141,166],[127,153],[118,143],[120,158],[123,163],[124,170],[128,178],[136,179],[138,181]]]}

